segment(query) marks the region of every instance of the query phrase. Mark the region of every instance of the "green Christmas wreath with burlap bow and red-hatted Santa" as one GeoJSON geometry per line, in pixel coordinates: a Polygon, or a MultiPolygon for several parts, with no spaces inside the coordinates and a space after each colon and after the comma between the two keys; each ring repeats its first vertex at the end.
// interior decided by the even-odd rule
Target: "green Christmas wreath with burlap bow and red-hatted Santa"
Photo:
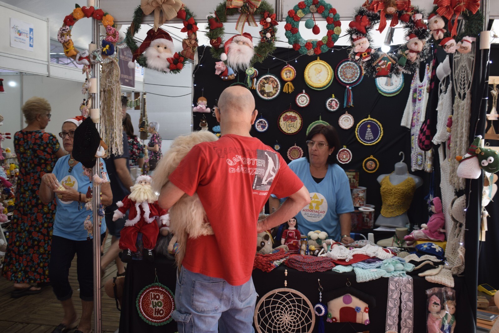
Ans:
{"type": "MultiPolygon", "coordinates": [[[[198,46],[198,39],[196,37],[196,31],[198,31],[198,26],[194,19],[195,15],[189,10],[189,8],[184,5],[181,6],[177,12],[177,17],[181,18],[184,23],[184,27],[180,30],[182,32],[187,32],[187,38],[182,41],[183,50],[180,52],[174,52],[173,56],[168,58],[168,67],[158,68],[157,66],[151,66],[147,63],[147,57],[144,53],[146,47],[148,47],[152,41],[156,38],[168,39],[171,42],[171,48],[173,49],[173,41],[165,30],[161,28],[153,28],[147,32],[147,37],[144,39],[142,44],[139,46],[134,39],[134,35],[140,30],[140,25],[142,23],[142,17],[144,15],[143,8],[139,5],[135,8],[133,13],[132,24],[128,27],[125,35],[125,43],[133,54],[133,60],[144,68],[151,68],[158,71],[170,72],[173,74],[178,74],[187,62],[187,59],[193,59],[194,53],[198,46]]],[[[129,67],[133,67],[135,64],[133,62],[129,63],[129,67]]]]}

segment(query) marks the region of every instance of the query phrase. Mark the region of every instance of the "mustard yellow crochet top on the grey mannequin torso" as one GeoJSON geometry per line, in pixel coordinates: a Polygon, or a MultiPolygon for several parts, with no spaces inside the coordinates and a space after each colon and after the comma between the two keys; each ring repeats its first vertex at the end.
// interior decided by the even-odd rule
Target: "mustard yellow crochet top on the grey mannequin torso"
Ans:
{"type": "Polygon", "coordinates": [[[412,177],[407,177],[402,183],[393,185],[390,176],[385,176],[381,181],[381,215],[384,217],[399,216],[407,212],[411,206],[412,197],[416,190],[416,182],[412,177]]]}

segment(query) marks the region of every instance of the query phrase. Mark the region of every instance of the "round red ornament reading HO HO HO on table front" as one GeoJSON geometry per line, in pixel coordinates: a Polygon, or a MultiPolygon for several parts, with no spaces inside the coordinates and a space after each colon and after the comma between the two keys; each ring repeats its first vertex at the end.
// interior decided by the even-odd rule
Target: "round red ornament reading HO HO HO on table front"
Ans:
{"type": "Polygon", "coordinates": [[[172,321],[175,310],[173,293],[159,282],[144,287],[137,296],[137,311],[149,325],[162,326],[172,321]]]}

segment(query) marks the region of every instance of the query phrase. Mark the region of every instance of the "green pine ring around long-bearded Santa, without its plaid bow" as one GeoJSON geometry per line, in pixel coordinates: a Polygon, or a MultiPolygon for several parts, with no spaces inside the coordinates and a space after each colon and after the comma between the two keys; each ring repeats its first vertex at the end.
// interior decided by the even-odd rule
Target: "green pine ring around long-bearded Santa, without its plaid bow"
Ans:
{"type": "MultiPolygon", "coordinates": [[[[224,35],[225,27],[224,23],[227,22],[227,16],[236,15],[240,12],[248,13],[248,4],[244,4],[241,9],[239,8],[227,8],[227,2],[220,2],[215,9],[213,14],[208,15],[208,24],[206,26],[206,36],[210,40],[210,44],[213,46],[210,51],[212,52],[212,57],[220,59],[222,53],[224,53],[224,35]]],[[[258,8],[254,11],[254,15],[260,15],[261,17],[269,17],[274,14],[274,8],[266,0],[262,0],[258,8]]],[[[275,18],[272,20],[275,21],[275,18]]],[[[275,34],[277,33],[277,22],[276,24],[269,24],[268,27],[261,25],[260,29],[260,39],[258,44],[254,46],[254,55],[251,59],[251,66],[256,62],[262,62],[265,58],[272,54],[275,50],[275,34]],[[268,35],[267,35],[268,33],[268,35]],[[268,37],[267,37],[268,36],[268,37]]],[[[245,23],[246,24],[246,23],[245,23]]]]}

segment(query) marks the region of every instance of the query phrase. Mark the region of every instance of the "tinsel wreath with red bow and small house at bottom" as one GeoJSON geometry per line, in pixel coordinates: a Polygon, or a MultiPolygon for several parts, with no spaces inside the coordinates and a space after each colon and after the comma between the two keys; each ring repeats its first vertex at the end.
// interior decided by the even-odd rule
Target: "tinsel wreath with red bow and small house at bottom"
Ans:
{"type": "Polygon", "coordinates": [[[357,8],[354,19],[347,29],[353,46],[350,49],[350,59],[361,65],[364,74],[368,76],[398,76],[401,73],[414,73],[419,63],[430,55],[430,47],[426,43],[430,31],[423,22],[423,14],[424,12],[412,6],[409,0],[366,1],[357,8]],[[388,20],[390,27],[397,25],[399,21],[402,22],[406,29],[407,43],[400,50],[385,54],[370,48],[373,41],[370,33],[377,23],[380,23],[377,31],[382,32],[388,20]]]}

